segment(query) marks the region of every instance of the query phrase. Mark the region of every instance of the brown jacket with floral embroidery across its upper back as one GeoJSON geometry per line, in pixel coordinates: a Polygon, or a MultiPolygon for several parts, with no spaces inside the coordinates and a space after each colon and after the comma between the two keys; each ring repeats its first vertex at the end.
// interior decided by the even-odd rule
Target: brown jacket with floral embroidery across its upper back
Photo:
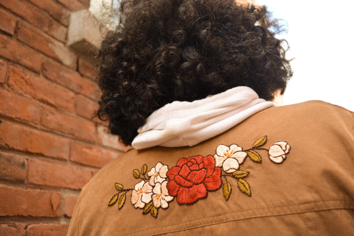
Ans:
{"type": "MultiPolygon", "coordinates": [[[[308,101],[265,109],[193,147],[131,150],[105,165],[82,189],[68,235],[353,235],[353,129],[353,112],[308,101]],[[237,144],[247,157],[234,174],[199,163],[209,172],[201,183],[206,196],[204,189],[193,192],[183,185],[184,195],[176,195],[167,209],[131,204],[132,192],[139,189],[129,189],[144,179],[149,182],[141,173],[144,164],[147,172],[158,162],[167,165],[169,181],[179,183],[176,176],[183,174],[178,171],[189,160],[179,161],[180,167],[178,160],[198,155],[206,160],[221,144],[237,144]],[[268,152],[283,162],[274,163],[268,152]],[[139,173],[133,174],[135,169],[139,173]],[[117,201],[108,206],[112,196],[117,201]]],[[[176,193],[173,184],[167,186],[176,193]]]]}

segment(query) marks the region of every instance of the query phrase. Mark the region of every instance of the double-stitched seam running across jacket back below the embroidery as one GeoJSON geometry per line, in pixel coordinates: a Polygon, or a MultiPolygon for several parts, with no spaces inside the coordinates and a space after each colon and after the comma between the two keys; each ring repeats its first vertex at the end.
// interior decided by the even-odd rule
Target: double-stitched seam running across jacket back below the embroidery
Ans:
{"type": "MultiPolygon", "coordinates": [[[[203,227],[203,226],[207,226],[207,225],[215,225],[215,224],[220,224],[220,223],[225,223],[225,222],[229,222],[229,221],[235,221],[235,220],[242,220],[242,219],[251,219],[251,218],[259,218],[259,217],[268,217],[268,216],[275,216],[275,215],[291,215],[291,214],[298,214],[298,213],[304,213],[304,212],[316,212],[316,211],[321,211],[321,210],[330,210],[330,209],[354,209],[354,206],[353,206],[353,202],[350,201],[350,200],[327,200],[327,201],[317,201],[317,202],[309,202],[309,203],[303,203],[303,204],[291,204],[291,205],[287,205],[287,206],[284,206],[284,207],[292,207],[292,206],[306,206],[306,205],[309,205],[309,204],[314,204],[314,203],[325,203],[325,202],[338,202],[338,203],[349,203],[350,206],[346,206],[346,207],[322,207],[320,209],[316,209],[316,210],[298,210],[298,211],[294,211],[292,213],[280,213],[280,214],[272,214],[272,213],[268,213],[268,214],[264,214],[264,215],[259,215],[259,216],[255,216],[255,217],[244,217],[244,218],[240,218],[240,219],[229,219],[229,220],[223,220],[223,221],[219,221],[219,222],[215,222],[215,223],[205,223],[203,225],[199,225],[199,226],[195,226],[195,227],[184,227],[183,229],[180,229],[180,230],[171,230],[169,232],[178,232],[178,231],[182,231],[182,230],[187,230],[187,229],[195,229],[195,228],[199,228],[199,227],[203,227]]],[[[343,204],[342,204],[343,205],[343,204]]],[[[273,207],[273,208],[255,208],[255,209],[252,209],[252,210],[246,210],[246,211],[242,211],[242,212],[239,212],[239,214],[241,215],[247,215],[247,212],[250,212],[250,211],[257,211],[257,210],[267,210],[267,209],[276,209],[276,208],[284,208],[284,207],[273,207]]],[[[219,218],[221,216],[223,217],[226,217],[228,215],[233,215],[234,213],[228,213],[228,214],[222,214],[222,215],[215,215],[215,216],[212,216],[212,217],[206,217],[206,218],[202,218],[202,219],[197,219],[197,220],[192,220],[192,221],[189,221],[188,223],[193,223],[193,222],[196,222],[196,221],[200,221],[200,220],[206,220],[206,219],[213,219],[213,218],[219,218]]],[[[171,227],[171,226],[178,226],[178,225],[183,225],[185,223],[179,223],[179,224],[174,224],[174,225],[168,225],[168,226],[161,226],[161,227],[156,227],[154,228],[154,230],[158,230],[158,229],[164,229],[164,228],[168,228],[168,227],[171,227]]],[[[129,235],[133,235],[133,234],[137,234],[137,233],[141,233],[141,232],[144,232],[146,230],[141,230],[141,231],[137,231],[137,232],[133,232],[129,235]]],[[[167,232],[164,232],[162,234],[165,234],[167,232]]],[[[145,234],[147,234],[147,232],[145,232],[145,234]]],[[[156,235],[156,234],[151,234],[150,235],[156,235]]]]}

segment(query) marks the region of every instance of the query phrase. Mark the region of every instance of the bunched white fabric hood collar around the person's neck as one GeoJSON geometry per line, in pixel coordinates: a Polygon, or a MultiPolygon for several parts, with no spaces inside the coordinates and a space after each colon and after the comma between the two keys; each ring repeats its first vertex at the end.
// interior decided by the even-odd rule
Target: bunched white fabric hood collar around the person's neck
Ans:
{"type": "Polygon", "coordinates": [[[175,101],[154,111],[138,129],[132,147],[194,146],[275,106],[249,87],[239,86],[193,102],[175,101]]]}

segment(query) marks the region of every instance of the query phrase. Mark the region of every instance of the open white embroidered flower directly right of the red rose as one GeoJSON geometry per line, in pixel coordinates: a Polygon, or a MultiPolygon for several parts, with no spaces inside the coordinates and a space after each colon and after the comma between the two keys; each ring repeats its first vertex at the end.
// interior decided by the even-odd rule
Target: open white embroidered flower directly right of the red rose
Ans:
{"type": "Polygon", "coordinates": [[[236,144],[232,144],[230,147],[221,144],[216,148],[214,155],[215,166],[222,167],[226,173],[233,173],[239,169],[246,157],[247,152],[242,152],[242,147],[236,144]]]}

